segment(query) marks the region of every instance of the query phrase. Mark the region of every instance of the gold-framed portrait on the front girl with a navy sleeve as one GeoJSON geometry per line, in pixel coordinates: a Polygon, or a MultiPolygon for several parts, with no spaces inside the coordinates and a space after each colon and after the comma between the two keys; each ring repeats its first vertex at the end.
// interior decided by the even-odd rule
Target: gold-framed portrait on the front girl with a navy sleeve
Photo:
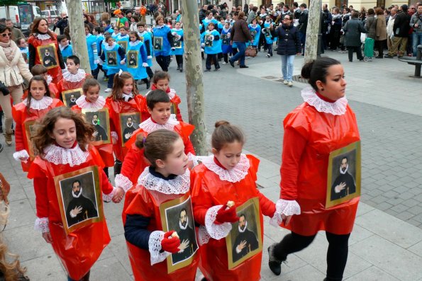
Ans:
{"type": "Polygon", "coordinates": [[[162,230],[165,232],[170,230],[176,231],[179,235],[181,245],[186,246],[184,251],[172,253],[167,257],[167,273],[170,274],[175,270],[190,265],[199,248],[198,242],[196,241],[191,196],[185,194],[182,197],[161,204],[160,217],[162,230]]]}

